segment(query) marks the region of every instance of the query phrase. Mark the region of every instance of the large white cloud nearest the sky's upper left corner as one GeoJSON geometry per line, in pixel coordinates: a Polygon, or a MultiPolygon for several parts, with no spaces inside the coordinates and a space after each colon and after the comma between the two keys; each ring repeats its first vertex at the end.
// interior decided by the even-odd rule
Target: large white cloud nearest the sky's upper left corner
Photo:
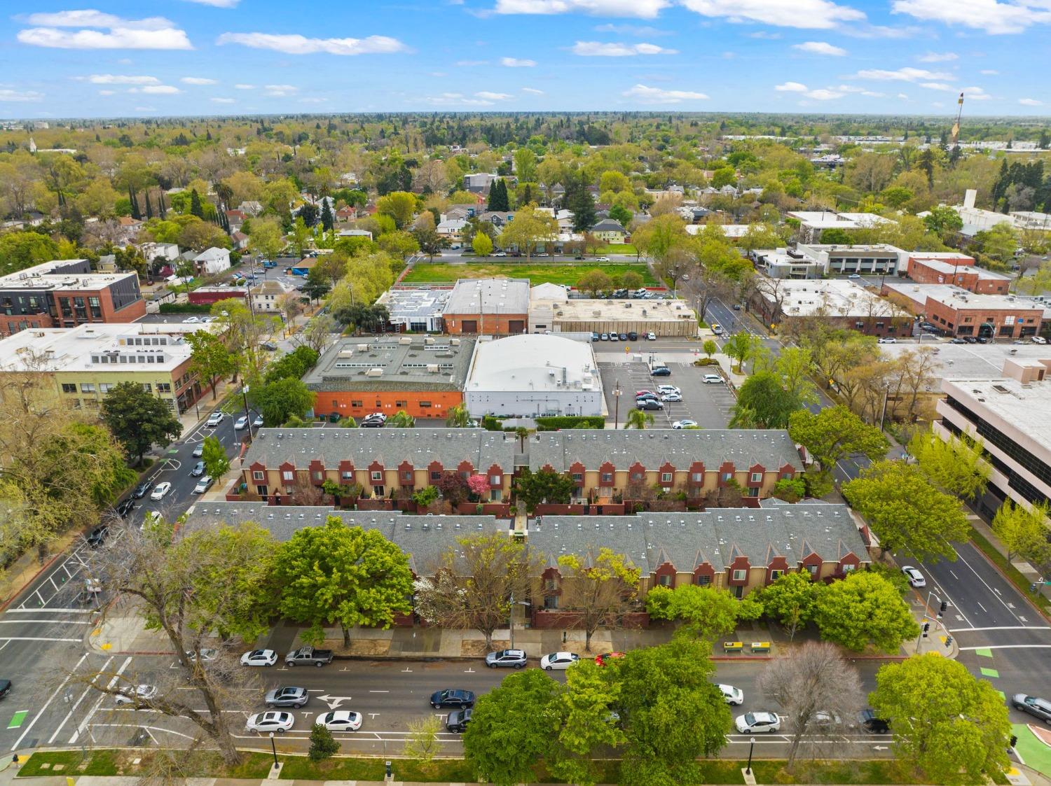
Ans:
{"type": "Polygon", "coordinates": [[[186,31],[164,17],[122,19],[99,10],[60,10],[30,14],[30,25],[18,31],[18,40],[29,46],[56,49],[192,49],[186,31]],[[67,30],[64,27],[81,29],[67,30]],[[89,28],[98,29],[89,29],[89,28]],[[103,31],[104,30],[104,31],[103,31]]]}

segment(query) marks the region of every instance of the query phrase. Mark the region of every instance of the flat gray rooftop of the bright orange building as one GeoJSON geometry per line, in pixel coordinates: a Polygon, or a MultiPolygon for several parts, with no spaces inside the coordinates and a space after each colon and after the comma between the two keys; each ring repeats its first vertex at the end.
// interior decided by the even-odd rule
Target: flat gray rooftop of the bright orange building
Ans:
{"type": "Polygon", "coordinates": [[[473,338],[342,338],[303,378],[311,390],[462,390],[473,338]]]}

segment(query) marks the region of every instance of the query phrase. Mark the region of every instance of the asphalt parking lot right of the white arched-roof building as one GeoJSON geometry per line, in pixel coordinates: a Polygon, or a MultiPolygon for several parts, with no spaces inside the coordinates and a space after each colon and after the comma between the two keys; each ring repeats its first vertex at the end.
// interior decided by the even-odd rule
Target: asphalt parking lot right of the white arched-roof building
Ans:
{"type": "MultiPolygon", "coordinates": [[[[660,363],[658,356],[658,364],[660,363]]],[[[617,415],[620,423],[627,419],[627,412],[635,406],[635,394],[638,390],[657,391],[657,385],[675,385],[682,391],[681,402],[666,402],[663,411],[651,410],[654,416],[654,428],[668,428],[675,421],[693,420],[701,428],[726,428],[730,419],[730,409],[736,399],[725,384],[704,384],[705,374],[717,371],[710,366],[694,366],[688,362],[672,361],[667,363],[672,369],[671,377],[651,377],[650,367],[644,362],[632,361],[623,363],[602,362],[598,364],[602,376],[602,387],[605,395],[610,420],[616,411],[614,388],[620,384],[623,394],[620,397],[620,410],[617,415]]]]}

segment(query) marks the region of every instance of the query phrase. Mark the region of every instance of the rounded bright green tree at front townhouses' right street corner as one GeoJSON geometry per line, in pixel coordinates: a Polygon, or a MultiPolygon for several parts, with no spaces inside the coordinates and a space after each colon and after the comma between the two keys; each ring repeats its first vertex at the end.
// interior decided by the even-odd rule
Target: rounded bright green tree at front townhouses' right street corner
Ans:
{"type": "Polygon", "coordinates": [[[813,621],[821,638],[862,652],[868,644],[895,653],[920,635],[909,606],[887,579],[867,571],[833,581],[818,595],[813,621]]]}

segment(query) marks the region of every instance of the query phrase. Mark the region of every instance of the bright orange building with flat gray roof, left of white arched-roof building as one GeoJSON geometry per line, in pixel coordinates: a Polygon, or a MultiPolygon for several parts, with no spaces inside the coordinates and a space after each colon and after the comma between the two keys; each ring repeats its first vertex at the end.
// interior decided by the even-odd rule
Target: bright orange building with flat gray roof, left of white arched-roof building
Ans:
{"type": "Polygon", "coordinates": [[[303,378],[314,412],[360,418],[404,409],[446,418],[463,403],[474,339],[449,336],[341,338],[303,378]]]}

